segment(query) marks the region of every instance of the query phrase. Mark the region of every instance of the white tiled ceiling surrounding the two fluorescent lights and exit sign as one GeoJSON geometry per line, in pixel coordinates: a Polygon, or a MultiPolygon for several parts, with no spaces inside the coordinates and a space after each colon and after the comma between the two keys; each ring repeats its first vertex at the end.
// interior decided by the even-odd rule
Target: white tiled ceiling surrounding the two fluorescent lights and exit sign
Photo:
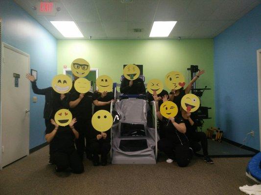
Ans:
{"type": "MultiPolygon", "coordinates": [[[[56,16],[38,16],[40,0],[14,0],[56,39],[64,38],[50,23],[75,21],[88,39],[151,39],[153,21],[178,21],[168,38],[213,38],[244,16],[261,0],[51,0],[61,8],[56,16]],[[134,28],[142,32],[135,33],[134,28]]],[[[49,1],[49,0],[45,0],[49,1]]],[[[67,38],[68,39],[68,38],[67,38]]]]}

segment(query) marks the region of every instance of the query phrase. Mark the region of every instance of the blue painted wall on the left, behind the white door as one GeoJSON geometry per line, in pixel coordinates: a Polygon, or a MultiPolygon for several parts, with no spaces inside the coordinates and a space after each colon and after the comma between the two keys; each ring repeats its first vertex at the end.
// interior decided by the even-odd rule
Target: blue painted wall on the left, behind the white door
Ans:
{"type": "MultiPolygon", "coordinates": [[[[30,68],[38,71],[39,88],[50,86],[57,74],[56,39],[13,0],[0,0],[2,41],[30,55],[30,68]]],[[[45,142],[45,97],[30,91],[30,149],[45,142]],[[37,103],[32,97],[37,96],[37,103]]]]}

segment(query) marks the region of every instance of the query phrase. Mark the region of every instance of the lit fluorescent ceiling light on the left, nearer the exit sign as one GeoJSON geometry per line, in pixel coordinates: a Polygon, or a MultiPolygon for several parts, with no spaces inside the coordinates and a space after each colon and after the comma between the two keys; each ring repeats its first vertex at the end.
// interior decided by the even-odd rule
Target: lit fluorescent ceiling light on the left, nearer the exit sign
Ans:
{"type": "Polygon", "coordinates": [[[50,21],[52,25],[67,38],[82,38],[83,35],[74,21],[50,21]]]}

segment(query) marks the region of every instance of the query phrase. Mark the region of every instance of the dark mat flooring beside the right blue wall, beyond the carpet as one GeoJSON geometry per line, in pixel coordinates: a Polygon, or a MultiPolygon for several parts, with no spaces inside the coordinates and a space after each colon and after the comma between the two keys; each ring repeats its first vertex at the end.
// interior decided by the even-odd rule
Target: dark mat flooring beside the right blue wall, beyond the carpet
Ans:
{"type": "MultiPolygon", "coordinates": [[[[210,156],[254,156],[256,153],[234,146],[228,142],[214,141],[208,139],[208,150],[210,156]]],[[[202,150],[198,154],[203,155],[202,150]]]]}

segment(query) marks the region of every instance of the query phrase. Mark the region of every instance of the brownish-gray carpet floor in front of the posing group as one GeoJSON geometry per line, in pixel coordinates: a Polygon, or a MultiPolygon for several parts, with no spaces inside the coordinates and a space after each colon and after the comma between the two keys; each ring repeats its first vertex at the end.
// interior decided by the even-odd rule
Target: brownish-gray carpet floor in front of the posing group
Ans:
{"type": "Polygon", "coordinates": [[[189,167],[166,163],[93,167],[84,160],[81,175],[54,172],[48,146],[0,171],[0,195],[244,195],[239,186],[255,184],[245,176],[250,157],[192,159],[189,167]]]}

